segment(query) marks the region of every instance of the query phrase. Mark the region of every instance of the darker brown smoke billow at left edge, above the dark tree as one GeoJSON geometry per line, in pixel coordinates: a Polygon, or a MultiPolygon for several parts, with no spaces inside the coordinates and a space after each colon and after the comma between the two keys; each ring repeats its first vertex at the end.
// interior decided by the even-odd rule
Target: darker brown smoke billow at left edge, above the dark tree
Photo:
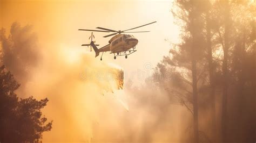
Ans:
{"type": "Polygon", "coordinates": [[[15,75],[19,83],[26,83],[29,78],[29,71],[35,67],[39,61],[38,40],[32,26],[21,27],[14,23],[10,28],[10,35],[5,36],[5,30],[0,32],[2,41],[2,64],[15,75]]]}

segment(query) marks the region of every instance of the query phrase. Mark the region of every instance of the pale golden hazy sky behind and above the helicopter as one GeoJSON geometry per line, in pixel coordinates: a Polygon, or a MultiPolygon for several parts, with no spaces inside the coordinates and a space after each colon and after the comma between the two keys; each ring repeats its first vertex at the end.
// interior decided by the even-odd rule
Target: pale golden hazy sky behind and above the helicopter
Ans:
{"type": "MultiPolygon", "coordinates": [[[[155,67],[164,55],[168,54],[171,42],[178,41],[178,27],[173,24],[170,12],[172,1],[2,1],[0,3],[0,27],[7,30],[13,22],[22,26],[33,25],[38,34],[39,44],[43,48],[68,46],[74,50],[81,44],[89,43],[89,31],[78,28],[94,29],[106,27],[113,30],[126,30],[146,23],[157,21],[152,25],[134,31],[151,31],[134,33],[138,38],[137,52],[128,56],[104,53],[103,60],[120,65],[125,74],[134,82],[141,81],[138,71],[146,66],[155,67]],[[134,73],[137,73],[134,75],[134,73]],[[133,77],[131,77],[133,74],[133,77]]],[[[94,33],[99,47],[108,43],[110,38],[103,38],[106,33],[94,33]]],[[[89,48],[83,47],[87,51],[89,48]]],[[[72,54],[72,53],[71,53],[72,54]]],[[[95,56],[91,52],[91,56],[95,56]]],[[[74,57],[75,58],[75,57],[74,57]]],[[[97,57],[95,60],[100,60],[97,57]]],[[[147,67],[147,68],[148,68],[147,67]]]]}

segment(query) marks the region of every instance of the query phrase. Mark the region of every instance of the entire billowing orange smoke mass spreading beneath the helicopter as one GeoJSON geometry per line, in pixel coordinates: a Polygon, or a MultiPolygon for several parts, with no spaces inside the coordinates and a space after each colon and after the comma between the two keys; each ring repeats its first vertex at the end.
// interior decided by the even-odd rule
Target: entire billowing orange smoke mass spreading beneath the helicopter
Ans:
{"type": "Polygon", "coordinates": [[[163,90],[151,82],[132,87],[122,68],[82,47],[35,46],[36,35],[25,27],[11,30],[22,37],[2,39],[3,63],[25,84],[23,96],[49,99],[43,113],[53,126],[43,142],[183,142],[192,116],[163,90]]]}

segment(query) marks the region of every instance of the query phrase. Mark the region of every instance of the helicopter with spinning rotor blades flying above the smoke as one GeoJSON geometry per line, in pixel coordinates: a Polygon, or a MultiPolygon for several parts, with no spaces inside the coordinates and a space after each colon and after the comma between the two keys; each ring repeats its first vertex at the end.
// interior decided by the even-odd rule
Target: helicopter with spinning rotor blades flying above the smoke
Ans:
{"type": "MultiPolygon", "coordinates": [[[[156,22],[152,22],[152,23],[148,23],[148,24],[144,24],[142,26],[138,26],[138,27],[134,27],[134,28],[130,28],[127,30],[111,30],[108,28],[103,28],[103,27],[96,27],[97,29],[100,30],[87,30],[87,29],[78,29],[78,30],[82,30],[82,31],[94,31],[94,32],[114,32],[112,34],[109,35],[105,35],[104,38],[106,37],[110,37],[112,35],[114,35],[110,40],[109,40],[109,44],[101,47],[101,48],[97,48],[97,46],[95,44],[95,41],[92,40],[92,37],[94,37],[93,33],[91,33],[91,43],[90,44],[83,44],[82,46],[91,46],[93,48],[93,50],[95,51],[95,57],[97,57],[99,55],[100,52],[102,52],[102,55],[100,56],[100,60],[102,60],[102,56],[104,52],[110,52],[110,54],[114,54],[114,59],[117,58],[117,56],[125,56],[125,59],[127,59],[127,56],[136,52],[137,50],[136,45],[138,44],[138,39],[136,39],[133,35],[131,34],[122,34],[122,33],[141,33],[141,32],[150,32],[150,31],[133,31],[133,32],[126,32],[129,30],[134,30],[136,28],[139,27],[143,27],[146,25],[150,25],[156,22]],[[126,53],[129,52],[129,53],[126,53]]],[[[89,38],[89,39],[90,39],[89,38]]]]}

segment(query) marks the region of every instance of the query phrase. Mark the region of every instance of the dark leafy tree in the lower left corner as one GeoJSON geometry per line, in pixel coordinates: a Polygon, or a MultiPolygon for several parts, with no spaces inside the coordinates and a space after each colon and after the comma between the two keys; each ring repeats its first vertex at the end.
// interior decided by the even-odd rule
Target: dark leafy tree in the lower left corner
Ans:
{"type": "Polygon", "coordinates": [[[0,142],[33,142],[50,131],[52,121],[42,116],[41,109],[48,99],[37,101],[32,96],[18,98],[19,84],[4,66],[0,67],[0,142]]]}

